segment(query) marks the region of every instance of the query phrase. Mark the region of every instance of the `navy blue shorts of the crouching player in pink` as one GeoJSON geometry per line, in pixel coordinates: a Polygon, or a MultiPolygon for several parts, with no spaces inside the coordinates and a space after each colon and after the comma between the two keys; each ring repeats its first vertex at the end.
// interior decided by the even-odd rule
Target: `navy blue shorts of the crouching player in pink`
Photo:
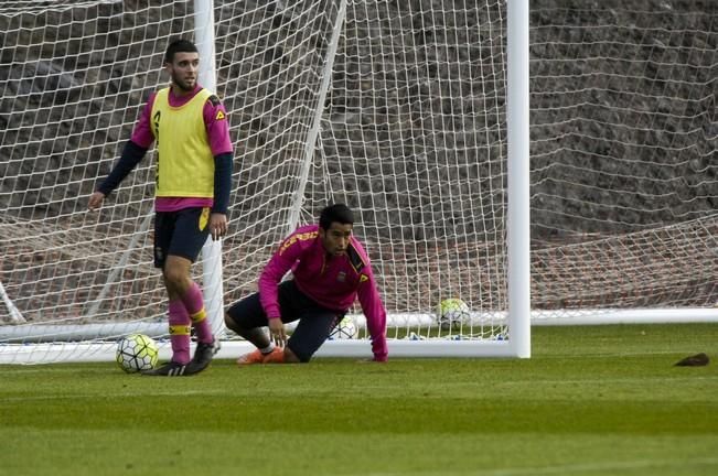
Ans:
{"type": "MultiPolygon", "coordinates": [[[[336,323],[346,314],[322,307],[302,293],[293,280],[279,284],[279,310],[283,323],[299,321],[287,340],[287,347],[303,363],[312,358],[336,323]]],[[[254,293],[233,304],[227,310],[227,314],[243,328],[268,325],[267,314],[259,302],[259,293],[254,293]]]]}

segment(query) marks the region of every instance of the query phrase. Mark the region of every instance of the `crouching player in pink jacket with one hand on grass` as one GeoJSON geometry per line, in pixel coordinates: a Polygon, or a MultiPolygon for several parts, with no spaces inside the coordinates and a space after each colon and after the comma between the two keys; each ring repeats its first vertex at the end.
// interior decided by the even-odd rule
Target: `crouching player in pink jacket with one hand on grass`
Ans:
{"type": "Polygon", "coordinates": [[[285,238],[259,277],[259,292],[225,314],[227,327],[257,347],[239,357],[238,365],[309,361],[357,298],[374,360],[387,359],[386,310],[353,228],[352,210],[335,204],[322,210],[319,226],[300,227],[285,238]],[[288,271],[292,279],[282,281],[288,271]],[[297,320],[287,339],[285,323],[297,320]]]}

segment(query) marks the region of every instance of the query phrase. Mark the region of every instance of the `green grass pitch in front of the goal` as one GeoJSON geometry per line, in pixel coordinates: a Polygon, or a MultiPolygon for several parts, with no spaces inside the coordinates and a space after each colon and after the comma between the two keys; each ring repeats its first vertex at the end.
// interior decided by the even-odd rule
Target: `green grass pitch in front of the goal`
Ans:
{"type": "Polygon", "coordinates": [[[718,325],[535,327],[532,354],[0,366],[0,474],[718,474],[718,325]]]}

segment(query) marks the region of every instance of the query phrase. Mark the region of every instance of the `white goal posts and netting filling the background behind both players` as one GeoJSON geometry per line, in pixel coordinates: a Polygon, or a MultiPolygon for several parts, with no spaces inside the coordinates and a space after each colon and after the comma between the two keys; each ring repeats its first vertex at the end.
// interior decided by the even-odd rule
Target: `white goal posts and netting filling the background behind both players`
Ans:
{"type": "MultiPolygon", "coordinates": [[[[287,231],[333,201],[356,210],[394,357],[528,357],[532,322],[718,321],[715,9],[6,3],[0,363],[167,337],[153,154],[99,214],[85,207],[178,36],[200,46],[235,145],[229,235],[194,268],[215,332],[287,231]],[[442,328],[447,298],[471,314],[442,328]]],[[[369,355],[354,312],[361,338],[319,355],[369,355]]],[[[219,357],[248,348],[224,338],[219,357]]]]}

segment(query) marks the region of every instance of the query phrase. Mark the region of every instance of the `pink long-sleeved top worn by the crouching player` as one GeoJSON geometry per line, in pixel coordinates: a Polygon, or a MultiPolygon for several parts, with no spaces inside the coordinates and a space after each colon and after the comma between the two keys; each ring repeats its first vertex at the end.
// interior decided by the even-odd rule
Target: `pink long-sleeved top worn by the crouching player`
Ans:
{"type": "Polygon", "coordinates": [[[277,285],[290,270],[297,288],[326,309],[346,312],[358,298],[372,351],[376,359],[386,359],[386,310],[369,259],[356,238],[351,237],[346,253],[328,257],[318,225],[298,228],[287,237],[259,277],[259,299],[269,318],[280,317],[277,285]]]}

